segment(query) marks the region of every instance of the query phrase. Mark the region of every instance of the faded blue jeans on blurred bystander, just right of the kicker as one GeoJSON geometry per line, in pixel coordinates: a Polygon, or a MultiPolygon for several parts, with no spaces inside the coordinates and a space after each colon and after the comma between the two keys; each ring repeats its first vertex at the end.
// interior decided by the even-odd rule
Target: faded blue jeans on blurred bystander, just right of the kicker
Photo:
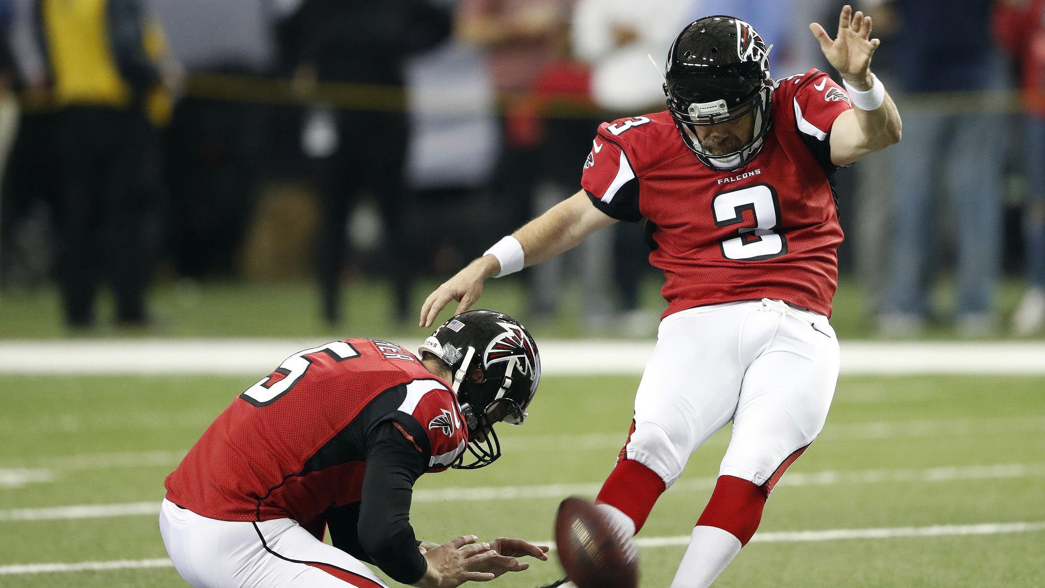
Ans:
{"type": "Polygon", "coordinates": [[[892,152],[892,246],[883,314],[926,317],[929,254],[948,196],[955,217],[957,314],[989,316],[1001,266],[1004,119],[904,111],[892,152]]]}

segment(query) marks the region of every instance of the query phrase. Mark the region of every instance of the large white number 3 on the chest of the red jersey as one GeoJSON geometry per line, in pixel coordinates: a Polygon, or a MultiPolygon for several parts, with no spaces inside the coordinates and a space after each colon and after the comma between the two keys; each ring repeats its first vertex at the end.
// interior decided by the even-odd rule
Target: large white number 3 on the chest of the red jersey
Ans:
{"type": "Polygon", "coordinates": [[[777,232],[781,203],[769,184],[721,191],[712,199],[712,210],[716,227],[743,223],[743,211],[751,211],[754,226],[739,227],[719,242],[723,257],[758,262],[787,253],[787,238],[777,232]]]}

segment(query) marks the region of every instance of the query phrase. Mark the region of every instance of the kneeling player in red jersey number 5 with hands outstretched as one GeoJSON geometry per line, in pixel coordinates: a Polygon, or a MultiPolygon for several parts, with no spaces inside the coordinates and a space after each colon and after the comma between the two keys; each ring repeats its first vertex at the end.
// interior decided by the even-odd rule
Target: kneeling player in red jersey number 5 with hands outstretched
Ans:
{"type": "Polygon", "coordinates": [[[239,394],[167,476],[167,553],[196,588],[385,588],[362,562],[421,588],[527,569],[518,558],[547,560],[548,547],[422,543],[410,502],[421,474],[500,457],[493,424],[521,424],[539,379],[530,334],[493,311],[447,321],[418,356],[369,339],[297,353],[239,394]]]}

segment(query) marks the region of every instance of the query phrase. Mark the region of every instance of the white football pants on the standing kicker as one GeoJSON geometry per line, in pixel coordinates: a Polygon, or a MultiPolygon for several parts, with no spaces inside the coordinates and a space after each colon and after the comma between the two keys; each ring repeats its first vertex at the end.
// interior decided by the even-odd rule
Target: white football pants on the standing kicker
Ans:
{"type": "Polygon", "coordinates": [[[762,485],[816,438],[837,380],[838,340],[823,315],[768,298],[675,313],[660,322],[635,394],[627,458],[670,488],[733,421],[719,475],[762,485]]]}

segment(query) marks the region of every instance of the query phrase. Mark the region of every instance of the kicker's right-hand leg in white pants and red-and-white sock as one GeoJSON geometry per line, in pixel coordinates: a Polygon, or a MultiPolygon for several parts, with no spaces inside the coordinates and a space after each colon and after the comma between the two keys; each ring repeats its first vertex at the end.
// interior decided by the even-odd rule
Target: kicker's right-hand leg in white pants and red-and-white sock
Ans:
{"type": "Polygon", "coordinates": [[[790,309],[744,374],[733,438],[672,588],[705,588],[762,520],[773,485],[823,428],[838,380],[827,317],[790,309]]]}

